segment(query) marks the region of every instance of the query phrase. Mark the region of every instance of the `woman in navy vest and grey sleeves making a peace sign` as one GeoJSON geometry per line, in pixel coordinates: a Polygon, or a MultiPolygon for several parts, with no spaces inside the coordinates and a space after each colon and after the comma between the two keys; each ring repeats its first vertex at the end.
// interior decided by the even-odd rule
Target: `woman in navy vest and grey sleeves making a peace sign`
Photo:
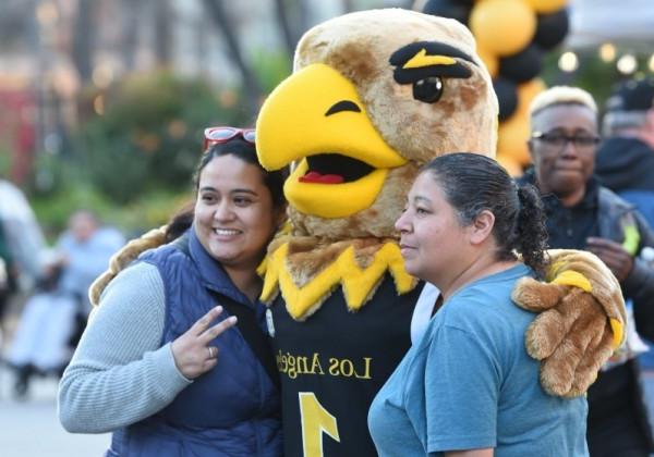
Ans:
{"type": "Polygon", "coordinates": [[[205,136],[174,242],[111,281],[60,383],[62,424],[112,431],[108,456],[281,455],[256,268],[284,219],[284,175],[258,164],[253,131],[205,136]]]}

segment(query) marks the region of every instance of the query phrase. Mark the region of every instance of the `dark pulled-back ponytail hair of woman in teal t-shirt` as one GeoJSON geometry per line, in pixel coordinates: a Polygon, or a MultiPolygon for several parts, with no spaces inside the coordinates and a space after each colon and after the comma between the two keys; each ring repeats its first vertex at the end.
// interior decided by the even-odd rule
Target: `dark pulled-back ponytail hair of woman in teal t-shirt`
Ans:
{"type": "Polygon", "coordinates": [[[495,215],[493,236],[499,260],[522,260],[540,276],[545,268],[547,230],[545,212],[536,188],[518,186],[495,160],[470,152],[449,153],[424,165],[458,214],[470,225],[483,211],[495,215]]]}

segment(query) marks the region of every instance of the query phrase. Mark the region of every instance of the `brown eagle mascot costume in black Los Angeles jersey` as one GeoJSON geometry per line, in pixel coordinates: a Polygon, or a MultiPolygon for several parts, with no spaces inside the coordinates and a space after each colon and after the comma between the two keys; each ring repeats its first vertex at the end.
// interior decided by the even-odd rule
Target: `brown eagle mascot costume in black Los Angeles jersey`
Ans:
{"type": "MultiPolygon", "coordinates": [[[[404,270],[393,223],[431,159],[494,157],[497,114],[474,38],[453,20],[364,11],[300,40],[293,74],[256,124],[261,163],[293,165],[284,185],[290,226],[259,268],[286,455],[376,455],[370,404],[437,296],[404,270]]],[[[160,243],[155,230],[129,244],[92,287],[94,301],[138,252],[160,243]]],[[[523,280],[513,299],[540,312],[525,345],[542,360],[543,388],[571,397],[622,342],[623,302],[594,256],[565,250],[549,258],[546,282],[523,280]]]]}

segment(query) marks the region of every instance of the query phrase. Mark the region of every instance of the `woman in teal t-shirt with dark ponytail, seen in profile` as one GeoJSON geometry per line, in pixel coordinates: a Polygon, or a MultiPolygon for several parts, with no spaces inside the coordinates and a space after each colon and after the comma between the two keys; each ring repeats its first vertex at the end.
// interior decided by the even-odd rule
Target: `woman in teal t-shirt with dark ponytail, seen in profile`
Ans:
{"type": "Polygon", "coordinates": [[[524,347],[535,314],[511,300],[518,280],[543,274],[537,190],[493,159],[446,155],[423,168],[396,228],[407,271],[444,301],[371,406],[379,455],[588,455],[585,398],[543,391],[524,347]]]}

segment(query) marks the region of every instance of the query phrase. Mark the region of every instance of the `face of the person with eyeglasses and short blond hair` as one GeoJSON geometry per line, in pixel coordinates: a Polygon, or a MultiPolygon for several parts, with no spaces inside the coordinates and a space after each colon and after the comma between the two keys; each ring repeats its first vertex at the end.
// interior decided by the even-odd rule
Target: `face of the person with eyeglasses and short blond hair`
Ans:
{"type": "Polygon", "coordinates": [[[555,194],[565,206],[577,203],[593,174],[596,146],[590,139],[597,137],[595,114],[582,104],[554,104],[533,115],[533,132],[544,135],[529,143],[541,193],[555,194]],[[581,140],[553,141],[561,137],[581,140]]]}

